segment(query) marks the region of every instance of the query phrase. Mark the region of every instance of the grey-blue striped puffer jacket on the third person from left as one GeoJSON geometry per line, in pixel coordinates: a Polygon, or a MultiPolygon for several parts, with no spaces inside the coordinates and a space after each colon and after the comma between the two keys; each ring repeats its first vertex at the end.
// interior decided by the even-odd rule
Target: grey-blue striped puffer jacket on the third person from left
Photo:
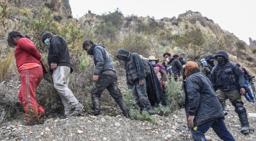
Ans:
{"type": "Polygon", "coordinates": [[[95,45],[94,43],[91,46],[88,54],[94,56],[95,75],[100,75],[100,73],[105,70],[112,70],[116,72],[112,66],[112,58],[105,48],[103,48],[102,44],[95,45]]]}

